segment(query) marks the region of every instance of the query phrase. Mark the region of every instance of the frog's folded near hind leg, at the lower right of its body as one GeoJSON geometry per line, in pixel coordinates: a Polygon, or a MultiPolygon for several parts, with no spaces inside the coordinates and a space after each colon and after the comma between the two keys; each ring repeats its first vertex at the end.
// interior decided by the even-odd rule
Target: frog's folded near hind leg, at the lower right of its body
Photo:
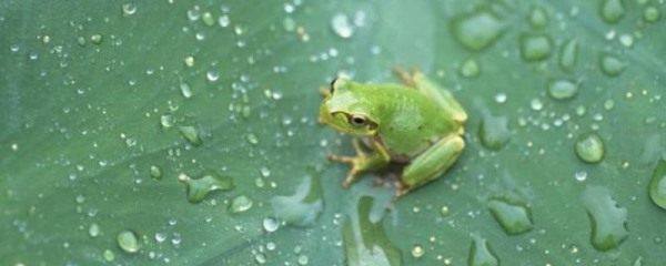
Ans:
{"type": "Polygon", "coordinates": [[[464,147],[465,142],[458,135],[447,136],[436,142],[404,168],[401,177],[404,187],[401,194],[441,177],[457,160],[464,147]]]}

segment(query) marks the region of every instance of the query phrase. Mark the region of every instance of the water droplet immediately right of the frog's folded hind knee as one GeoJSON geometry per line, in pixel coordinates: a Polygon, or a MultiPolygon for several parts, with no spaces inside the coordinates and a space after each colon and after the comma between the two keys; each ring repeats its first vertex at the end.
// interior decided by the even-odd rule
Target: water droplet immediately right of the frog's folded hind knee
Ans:
{"type": "Polygon", "coordinates": [[[484,147],[498,151],[511,139],[507,116],[495,116],[490,112],[483,114],[478,126],[478,139],[484,147]]]}

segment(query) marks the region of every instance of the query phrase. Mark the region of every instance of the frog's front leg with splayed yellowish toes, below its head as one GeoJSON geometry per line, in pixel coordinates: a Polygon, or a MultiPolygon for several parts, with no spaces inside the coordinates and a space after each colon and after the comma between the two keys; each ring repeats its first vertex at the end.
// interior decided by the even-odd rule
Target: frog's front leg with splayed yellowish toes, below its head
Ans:
{"type": "Polygon", "coordinates": [[[391,156],[386,150],[381,146],[376,141],[372,140],[371,147],[374,151],[373,154],[366,154],[361,147],[361,141],[357,137],[352,140],[354,150],[356,150],[356,156],[341,156],[336,154],[330,154],[329,158],[334,162],[341,162],[352,165],[352,170],[347,174],[342,185],[350,187],[354,181],[361,176],[364,172],[382,168],[391,161],[391,156]]]}

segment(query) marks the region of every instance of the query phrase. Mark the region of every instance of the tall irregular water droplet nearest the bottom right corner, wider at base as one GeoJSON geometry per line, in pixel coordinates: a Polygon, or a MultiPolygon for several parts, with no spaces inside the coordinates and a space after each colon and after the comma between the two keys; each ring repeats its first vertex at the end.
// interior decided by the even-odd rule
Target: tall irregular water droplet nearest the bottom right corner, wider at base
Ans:
{"type": "Polygon", "coordinates": [[[627,238],[627,209],[617,206],[608,188],[587,186],[583,193],[583,203],[592,226],[591,242],[596,249],[608,250],[627,238]]]}

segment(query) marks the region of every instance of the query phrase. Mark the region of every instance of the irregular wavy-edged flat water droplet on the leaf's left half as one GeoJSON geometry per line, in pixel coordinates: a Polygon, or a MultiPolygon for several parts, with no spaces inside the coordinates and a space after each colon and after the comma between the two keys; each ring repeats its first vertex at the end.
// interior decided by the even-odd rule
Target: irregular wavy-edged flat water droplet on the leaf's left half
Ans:
{"type": "Polygon", "coordinates": [[[185,184],[188,190],[188,201],[200,203],[213,191],[230,191],[233,188],[233,180],[229,176],[221,176],[213,171],[208,171],[199,178],[191,178],[186,174],[180,174],[178,177],[185,184]]]}

